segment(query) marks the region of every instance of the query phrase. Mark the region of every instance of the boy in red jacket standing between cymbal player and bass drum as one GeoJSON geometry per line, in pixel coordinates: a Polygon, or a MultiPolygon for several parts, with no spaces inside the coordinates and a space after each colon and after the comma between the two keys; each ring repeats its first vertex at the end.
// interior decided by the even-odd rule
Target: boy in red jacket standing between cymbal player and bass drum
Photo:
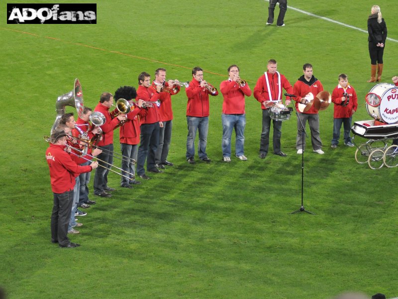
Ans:
{"type": "Polygon", "coordinates": [[[337,148],[341,125],[344,125],[344,144],[347,147],[353,147],[350,137],[351,121],[352,115],[358,108],[358,99],[354,88],[348,83],[346,74],[339,75],[339,84],[333,90],[332,102],[334,103],[334,115],[331,147],[337,148]]]}

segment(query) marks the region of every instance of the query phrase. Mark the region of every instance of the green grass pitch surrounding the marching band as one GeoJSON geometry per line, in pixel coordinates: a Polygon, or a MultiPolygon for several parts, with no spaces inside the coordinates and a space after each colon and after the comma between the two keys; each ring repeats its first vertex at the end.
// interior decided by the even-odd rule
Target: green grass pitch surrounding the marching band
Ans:
{"type": "MultiPolygon", "coordinates": [[[[378,4],[388,36],[398,39],[391,0],[315,2],[289,5],[366,30],[370,8],[378,4]]],[[[292,8],[285,27],[266,27],[267,7],[263,0],[101,0],[95,25],[7,25],[1,2],[0,286],[8,298],[324,299],[345,291],[398,296],[397,168],[372,170],[355,161],[355,148],[331,149],[332,106],[320,112],[325,154],[304,155],[304,206],[316,215],[288,214],[301,199],[295,115],[282,128],[288,157],[260,159],[260,104],[247,98],[248,160],[226,164],[222,96],[212,98],[212,162],[190,165],[182,90],[173,97],[169,160],[175,166],[134,189],[118,188],[110,199],[91,195],[97,204],[80,217],[81,233],[71,236],[81,247],[63,250],[50,242],[52,192],[43,136],[55,121],[57,97],[72,90],[75,78],[85,106],[94,108],[102,92],[137,87],[140,72],[154,74],[158,67],[167,69],[169,79],[188,81],[199,65],[204,79],[219,87],[236,63],[253,89],[271,58],[292,85],[310,62],[330,92],[338,74],[347,73],[359,98],[354,121],[370,119],[364,100],[374,85],[366,82],[367,33],[292,8]]],[[[397,53],[398,42],[388,41],[383,82],[398,75],[397,53]]],[[[119,181],[109,175],[110,186],[119,181]]]]}

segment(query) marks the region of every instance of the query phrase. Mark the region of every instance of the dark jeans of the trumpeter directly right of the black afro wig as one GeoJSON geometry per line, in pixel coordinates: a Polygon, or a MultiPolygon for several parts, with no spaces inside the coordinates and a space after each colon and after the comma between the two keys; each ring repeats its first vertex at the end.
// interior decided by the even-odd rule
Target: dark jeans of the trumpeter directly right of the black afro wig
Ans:
{"type": "Polygon", "coordinates": [[[145,174],[144,164],[148,171],[156,169],[155,153],[159,144],[159,123],[141,125],[141,143],[138,148],[137,173],[145,174]]]}

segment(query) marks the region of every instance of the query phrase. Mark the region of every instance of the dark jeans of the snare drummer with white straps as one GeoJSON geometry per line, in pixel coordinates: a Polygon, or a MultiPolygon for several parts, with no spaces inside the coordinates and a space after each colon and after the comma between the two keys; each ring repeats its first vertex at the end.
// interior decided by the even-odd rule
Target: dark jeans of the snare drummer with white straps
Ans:
{"type": "MultiPolygon", "coordinates": [[[[274,133],[272,136],[272,143],[274,146],[274,152],[278,153],[281,151],[281,136],[282,136],[282,121],[272,120],[272,125],[274,127],[274,133]]],[[[271,118],[270,111],[263,110],[263,128],[261,131],[260,139],[260,153],[268,153],[268,146],[270,145],[270,128],[271,128],[271,118]]]]}

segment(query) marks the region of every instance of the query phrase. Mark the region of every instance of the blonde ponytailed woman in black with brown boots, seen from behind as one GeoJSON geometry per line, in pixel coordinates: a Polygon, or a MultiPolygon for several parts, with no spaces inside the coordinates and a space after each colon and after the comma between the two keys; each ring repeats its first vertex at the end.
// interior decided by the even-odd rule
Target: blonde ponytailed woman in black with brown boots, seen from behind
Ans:
{"type": "Polygon", "coordinates": [[[383,73],[383,52],[387,38],[387,26],[378,5],[373,5],[368,18],[369,55],[371,59],[371,77],[368,82],[379,82],[383,73]],[[376,78],[377,69],[377,78],[376,78]]]}

